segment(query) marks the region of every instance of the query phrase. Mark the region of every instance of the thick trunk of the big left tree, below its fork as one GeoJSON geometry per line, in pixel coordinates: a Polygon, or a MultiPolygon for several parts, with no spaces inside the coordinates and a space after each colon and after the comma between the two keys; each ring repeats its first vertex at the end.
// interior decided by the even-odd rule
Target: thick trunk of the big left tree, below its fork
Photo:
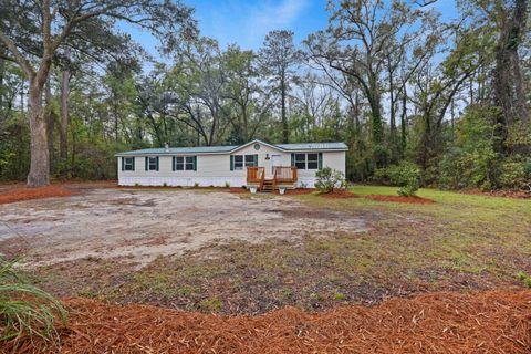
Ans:
{"type": "Polygon", "coordinates": [[[30,81],[28,111],[31,135],[31,163],[28,187],[41,187],[50,184],[50,158],[48,152],[46,119],[42,110],[43,84],[34,77],[30,81]]]}

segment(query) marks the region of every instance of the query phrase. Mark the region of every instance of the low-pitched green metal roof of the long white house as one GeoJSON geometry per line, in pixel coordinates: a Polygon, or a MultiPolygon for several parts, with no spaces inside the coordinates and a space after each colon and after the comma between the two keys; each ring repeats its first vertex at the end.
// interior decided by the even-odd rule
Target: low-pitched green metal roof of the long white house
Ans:
{"type": "Polygon", "coordinates": [[[223,154],[237,150],[240,147],[250,145],[251,143],[262,143],[277,147],[280,150],[299,152],[299,150],[347,150],[345,143],[304,143],[304,144],[268,144],[261,140],[252,140],[243,145],[227,146],[197,146],[197,147],[169,147],[169,148],[144,148],[139,150],[118,153],[116,156],[128,155],[183,155],[183,154],[223,154]]]}

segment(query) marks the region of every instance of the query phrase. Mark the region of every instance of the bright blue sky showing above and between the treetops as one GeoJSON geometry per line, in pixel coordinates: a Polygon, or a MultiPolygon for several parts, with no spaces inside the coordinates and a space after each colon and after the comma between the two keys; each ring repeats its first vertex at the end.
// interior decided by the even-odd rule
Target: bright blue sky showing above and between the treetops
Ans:
{"type": "MultiPolygon", "coordinates": [[[[413,1],[413,0],[412,0],[413,1]]],[[[258,50],[272,30],[292,30],[300,43],[310,33],[326,28],[326,0],[184,0],[196,9],[201,34],[242,49],[258,50]]],[[[434,6],[442,18],[456,15],[455,0],[438,0],[434,6]]],[[[156,58],[156,42],[148,34],[131,32],[156,58]]],[[[159,58],[158,58],[159,59],[159,58]]]]}

